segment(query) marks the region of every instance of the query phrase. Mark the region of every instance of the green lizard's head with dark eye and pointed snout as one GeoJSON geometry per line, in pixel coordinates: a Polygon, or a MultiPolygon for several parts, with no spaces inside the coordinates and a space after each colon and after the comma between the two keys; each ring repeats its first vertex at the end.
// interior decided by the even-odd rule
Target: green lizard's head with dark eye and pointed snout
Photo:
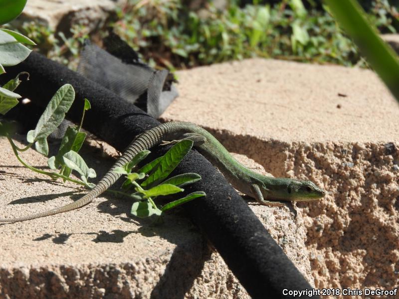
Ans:
{"type": "Polygon", "coordinates": [[[326,195],[326,191],[315,183],[302,179],[292,179],[287,186],[287,193],[295,201],[315,200],[326,195]]]}

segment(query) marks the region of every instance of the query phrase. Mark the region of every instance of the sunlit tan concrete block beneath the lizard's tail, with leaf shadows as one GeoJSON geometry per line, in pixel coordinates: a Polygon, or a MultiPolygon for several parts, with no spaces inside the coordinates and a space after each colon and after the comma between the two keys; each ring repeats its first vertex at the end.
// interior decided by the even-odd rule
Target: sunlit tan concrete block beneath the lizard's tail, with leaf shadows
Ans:
{"type": "MultiPolygon", "coordinates": [[[[98,176],[116,155],[100,145],[92,141],[81,150],[98,176]]],[[[0,150],[1,216],[59,207],[84,193],[21,166],[7,140],[0,139],[0,150]]],[[[46,165],[33,149],[22,156],[33,166],[46,165]]],[[[238,159],[262,170],[253,160],[238,159]]],[[[313,285],[302,218],[288,207],[250,204],[313,285]]],[[[0,298],[249,298],[184,215],[171,213],[152,226],[129,217],[130,206],[126,198],[106,194],[78,210],[1,224],[0,298]]]]}

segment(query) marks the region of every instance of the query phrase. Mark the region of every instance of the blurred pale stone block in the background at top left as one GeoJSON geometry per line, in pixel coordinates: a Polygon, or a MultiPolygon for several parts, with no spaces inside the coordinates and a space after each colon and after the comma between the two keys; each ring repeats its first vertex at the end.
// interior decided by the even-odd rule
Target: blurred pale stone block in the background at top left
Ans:
{"type": "Polygon", "coordinates": [[[83,24],[89,31],[101,28],[114,13],[116,2],[124,0],[29,0],[22,14],[12,23],[19,26],[24,21],[34,21],[56,31],[69,34],[73,24],[83,24]]]}

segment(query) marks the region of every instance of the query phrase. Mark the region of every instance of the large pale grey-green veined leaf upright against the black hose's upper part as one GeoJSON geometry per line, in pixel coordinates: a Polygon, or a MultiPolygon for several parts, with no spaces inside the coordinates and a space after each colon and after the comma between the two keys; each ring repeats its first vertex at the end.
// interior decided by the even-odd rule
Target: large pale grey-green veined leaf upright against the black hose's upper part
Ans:
{"type": "MultiPolygon", "coordinates": [[[[37,122],[36,128],[28,132],[26,136],[27,141],[29,143],[33,143],[34,141],[40,141],[40,144],[47,143],[47,137],[61,124],[74,98],[75,91],[72,85],[65,84],[61,86],[48,103],[37,122]]],[[[40,152],[44,154],[44,152],[40,152]]]]}

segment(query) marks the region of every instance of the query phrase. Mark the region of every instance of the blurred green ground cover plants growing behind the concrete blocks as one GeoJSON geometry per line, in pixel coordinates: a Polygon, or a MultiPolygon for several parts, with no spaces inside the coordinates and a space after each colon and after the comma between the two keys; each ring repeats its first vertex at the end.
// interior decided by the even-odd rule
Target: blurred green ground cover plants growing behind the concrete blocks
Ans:
{"type": "MultiPolygon", "coordinates": [[[[319,1],[261,1],[240,5],[227,1],[217,9],[211,1],[192,10],[191,1],[130,0],[109,23],[151,66],[188,68],[197,65],[271,57],[303,62],[365,65],[357,46],[319,1]]],[[[206,2],[206,1],[204,1],[206,2]]],[[[371,23],[382,33],[399,29],[396,0],[361,1],[371,23]]],[[[22,33],[48,57],[76,68],[87,28],[56,33],[33,22],[22,33]]]]}

